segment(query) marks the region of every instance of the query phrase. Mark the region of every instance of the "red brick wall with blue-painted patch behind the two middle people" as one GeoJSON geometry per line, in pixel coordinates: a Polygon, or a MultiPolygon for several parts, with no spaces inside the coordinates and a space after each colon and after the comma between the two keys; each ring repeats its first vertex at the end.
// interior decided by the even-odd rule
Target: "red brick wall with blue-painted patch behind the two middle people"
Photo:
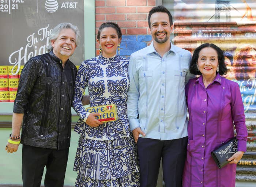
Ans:
{"type": "MultiPolygon", "coordinates": [[[[151,42],[147,17],[156,0],[95,0],[95,37],[104,22],[115,22],[122,29],[120,55],[129,57],[131,53],[146,47],[151,42]]],[[[99,45],[96,44],[99,54],[99,45]]]]}

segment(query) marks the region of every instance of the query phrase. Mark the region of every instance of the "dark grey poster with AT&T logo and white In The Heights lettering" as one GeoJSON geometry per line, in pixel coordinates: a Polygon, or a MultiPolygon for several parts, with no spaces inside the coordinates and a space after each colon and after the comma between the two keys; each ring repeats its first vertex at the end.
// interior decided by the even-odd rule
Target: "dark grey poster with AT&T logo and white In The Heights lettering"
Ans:
{"type": "Polygon", "coordinates": [[[61,22],[78,26],[82,41],[70,60],[84,60],[83,0],[0,0],[0,65],[18,67],[29,58],[48,52],[52,28],[61,22]]]}

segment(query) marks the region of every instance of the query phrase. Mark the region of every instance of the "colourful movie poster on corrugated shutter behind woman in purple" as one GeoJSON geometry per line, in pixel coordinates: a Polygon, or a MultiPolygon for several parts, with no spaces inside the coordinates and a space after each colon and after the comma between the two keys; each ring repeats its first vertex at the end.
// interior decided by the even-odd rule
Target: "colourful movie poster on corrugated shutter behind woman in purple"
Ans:
{"type": "Polygon", "coordinates": [[[248,142],[256,142],[256,0],[174,0],[175,45],[214,43],[225,54],[225,77],[240,87],[248,142]]]}

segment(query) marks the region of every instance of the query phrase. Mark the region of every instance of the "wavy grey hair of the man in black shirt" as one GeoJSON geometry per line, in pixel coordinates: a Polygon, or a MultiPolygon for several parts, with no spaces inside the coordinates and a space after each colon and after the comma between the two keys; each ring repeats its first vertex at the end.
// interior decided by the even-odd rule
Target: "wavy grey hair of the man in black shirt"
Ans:
{"type": "Polygon", "coordinates": [[[52,50],[52,43],[51,40],[56,40],[60,34],[60,31],[65,28],[71,28],[75,34],[76,34],[76,46],[80,43],[80,32],[78,30],[78,27],[75,25],[72,25],[71,23],[60,23],[56,27],[53,28],[52,33],[49,36],[49,44],[46,47],[48,51],[52,50]]]}

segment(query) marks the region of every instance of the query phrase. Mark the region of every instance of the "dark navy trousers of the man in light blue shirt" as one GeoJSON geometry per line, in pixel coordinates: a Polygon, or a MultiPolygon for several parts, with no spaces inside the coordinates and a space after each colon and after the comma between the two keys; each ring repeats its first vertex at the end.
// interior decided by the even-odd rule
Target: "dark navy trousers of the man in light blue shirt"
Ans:
{"type": "Polygon", "coordinates": [[[162,158],[165,187],[181,187],[188,137],[176,140],[139,138],[140,187],[155,187],[162,158]]]}

